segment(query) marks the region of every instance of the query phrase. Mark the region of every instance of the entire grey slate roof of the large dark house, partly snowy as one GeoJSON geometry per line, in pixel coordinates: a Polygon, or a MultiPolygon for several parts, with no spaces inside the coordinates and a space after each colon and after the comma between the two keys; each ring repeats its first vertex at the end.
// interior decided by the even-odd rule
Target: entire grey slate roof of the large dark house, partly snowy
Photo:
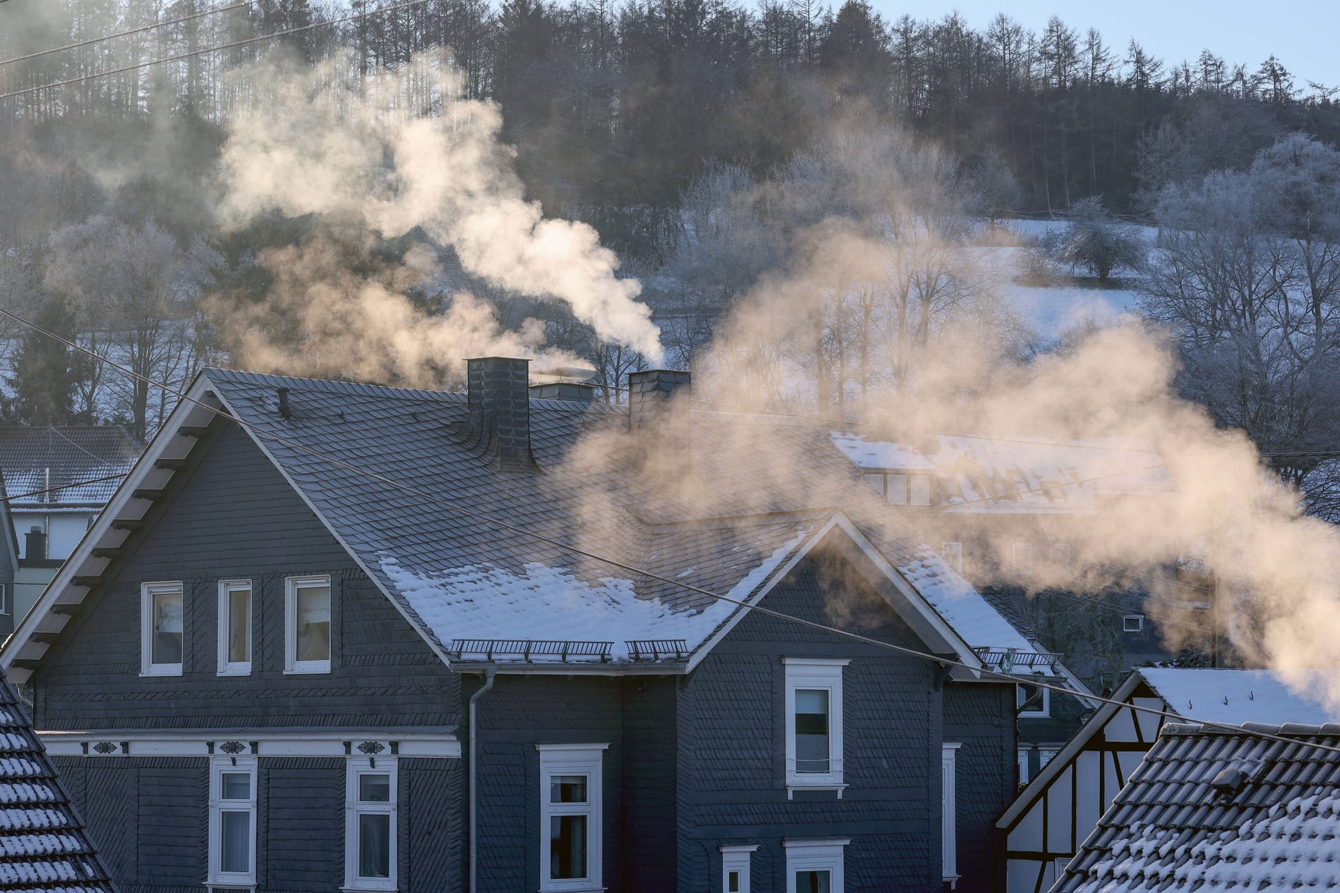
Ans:
{"type": "Polygon", "coordinates": [[[695,411],[682,474],[662,467],[651,481],[624,434],[624,410],[532,399],[539,470],[498,473],[453,427],[469,418],[464,394],[204,375],[406,616],[448,652],[466,639],[539,637],[610,641],[615,659],[634,639],[685,640],[693,649],[738,608],[678,582],[748,598],[840,517],[851,517],[969,645],[1030,649],[809,422],[695,411]],[[288,419],[276,410],[277,387],[289,388],[288,419]],[[796,457],[788,469],[773,467],[764,449],[783,438],[796,457]],[[780,475],[791,475],[785,486],[780,475]],[[665,491],[667,478],[677,491],[665,491]]]}

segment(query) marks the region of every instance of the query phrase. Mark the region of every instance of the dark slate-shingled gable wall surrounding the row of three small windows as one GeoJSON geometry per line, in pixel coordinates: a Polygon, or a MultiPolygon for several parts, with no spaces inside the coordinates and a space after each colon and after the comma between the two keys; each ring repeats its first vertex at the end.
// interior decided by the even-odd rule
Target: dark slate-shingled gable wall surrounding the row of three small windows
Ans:
{"type": "MultiPolygon", "coordinates": [[[[177,475],[178,478],[182,475],[177,475]]],[[[229,427],[34,677],[40,728],[454,724],[460,680],[229,427]],[[332,577],[332,672],[284,676],[284,578],[332,577]],[[217,582],[253,581],[252,675],[217,675],[217,582]],[[139,677],[139,585],[182,580],[185,675],[139,677]]]]}

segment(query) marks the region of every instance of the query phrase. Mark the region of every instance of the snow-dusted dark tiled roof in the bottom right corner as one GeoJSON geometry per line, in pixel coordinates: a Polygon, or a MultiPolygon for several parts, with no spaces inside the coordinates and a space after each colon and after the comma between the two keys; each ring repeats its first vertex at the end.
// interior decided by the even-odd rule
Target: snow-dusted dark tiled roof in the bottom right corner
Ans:
{"type": "Polygon", "coordinates": [[[1340,724],[1168,723],[1052,889],[1340,889],[1340,724]]]}

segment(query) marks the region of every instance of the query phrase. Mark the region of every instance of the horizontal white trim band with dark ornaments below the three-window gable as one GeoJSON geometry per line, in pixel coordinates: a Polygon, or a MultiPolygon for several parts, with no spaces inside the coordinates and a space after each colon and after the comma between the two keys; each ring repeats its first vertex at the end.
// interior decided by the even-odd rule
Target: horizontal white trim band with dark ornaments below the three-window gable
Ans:
{"type": "Polygon", "coordinates": [[[259,758],[279,756],[350,756],[379,746],[377,754],[460,759],[461,742],[448,730],[106,730],[106,731],[39,731],[52,756],[200,756],[210,758],[228,742],[240,742],[243,752],[259,758]],[[110,747],[109,747],[110,746],[110,747]]]}

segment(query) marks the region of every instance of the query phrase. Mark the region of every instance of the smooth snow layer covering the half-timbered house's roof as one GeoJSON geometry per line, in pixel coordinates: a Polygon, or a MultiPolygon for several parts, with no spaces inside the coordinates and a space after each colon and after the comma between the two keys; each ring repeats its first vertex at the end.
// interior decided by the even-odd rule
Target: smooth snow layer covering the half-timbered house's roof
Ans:
{"type": "Polygon", "coordinates": [[[1143,667],[1136,672],[1172,712],[1209,723],[1336,722],[1340,714],[1297,694],[1269,669],[1143,667]]]}

